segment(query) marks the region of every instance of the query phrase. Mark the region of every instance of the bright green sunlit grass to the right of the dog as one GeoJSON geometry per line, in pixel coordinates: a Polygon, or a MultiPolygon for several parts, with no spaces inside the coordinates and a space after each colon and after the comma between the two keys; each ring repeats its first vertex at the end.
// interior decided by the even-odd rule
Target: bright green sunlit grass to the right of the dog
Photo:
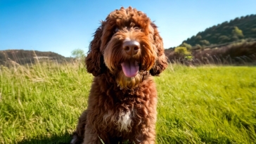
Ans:
{"type": "Polygon", "coordinates": [[[158,83],[159,143],[256,143],[256,67],[183,67],[158,83]]]}

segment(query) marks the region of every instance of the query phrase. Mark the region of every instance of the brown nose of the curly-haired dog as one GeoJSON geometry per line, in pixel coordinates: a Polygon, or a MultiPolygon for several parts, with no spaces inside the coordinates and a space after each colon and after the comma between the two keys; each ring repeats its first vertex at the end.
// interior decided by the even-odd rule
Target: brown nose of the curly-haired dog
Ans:
{"type": "Polygon", "coordinates": [[[124,41],[124,44],[122,44],[122,48],[124,48],[124,51],[128,55],[135,55],[139,52],[141,45],[138,41],[124,41]]]}

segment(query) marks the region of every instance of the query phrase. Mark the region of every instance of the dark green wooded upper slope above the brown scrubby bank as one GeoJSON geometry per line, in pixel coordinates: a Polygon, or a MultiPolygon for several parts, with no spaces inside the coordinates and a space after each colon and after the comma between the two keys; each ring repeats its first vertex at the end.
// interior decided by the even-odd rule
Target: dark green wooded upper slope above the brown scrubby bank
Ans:
{"type": "Polygon", "coordinates": [[[201,47],[226,44],[241,39],[256,39],[256,15],[242,16],[214,25],[203,32],[198,32],[196,36],[186,39],[183,43],[201,47]]]}

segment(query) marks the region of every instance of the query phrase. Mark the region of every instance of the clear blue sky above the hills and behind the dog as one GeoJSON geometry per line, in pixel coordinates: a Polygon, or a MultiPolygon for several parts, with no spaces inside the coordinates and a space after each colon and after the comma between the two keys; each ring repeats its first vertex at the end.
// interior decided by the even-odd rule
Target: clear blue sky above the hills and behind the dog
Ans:
{"type": "Polygon", "coordinates": [[[108,13],[132,6],[158,25],[165,48],[178,46],[224,21],[255,14],[255,0],[0,0],[0,51],[53,51],[66,57],[88,51],[92,34],[108,13]]]}

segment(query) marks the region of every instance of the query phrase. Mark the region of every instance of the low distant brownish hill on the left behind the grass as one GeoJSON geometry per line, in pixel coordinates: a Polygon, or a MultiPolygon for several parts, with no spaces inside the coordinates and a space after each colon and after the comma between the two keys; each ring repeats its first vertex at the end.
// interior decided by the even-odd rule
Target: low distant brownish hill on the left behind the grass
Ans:
{"type": "Polygon", "coordinates": [[[51,51],[25,51],[25,50],[6,50],[0,51],[0,65],[7,65],[8,61],[18,64],[34,63],[35,60],[56,60],[62,63],[64,60],[70,60],[63,55],[51,51]]]}

